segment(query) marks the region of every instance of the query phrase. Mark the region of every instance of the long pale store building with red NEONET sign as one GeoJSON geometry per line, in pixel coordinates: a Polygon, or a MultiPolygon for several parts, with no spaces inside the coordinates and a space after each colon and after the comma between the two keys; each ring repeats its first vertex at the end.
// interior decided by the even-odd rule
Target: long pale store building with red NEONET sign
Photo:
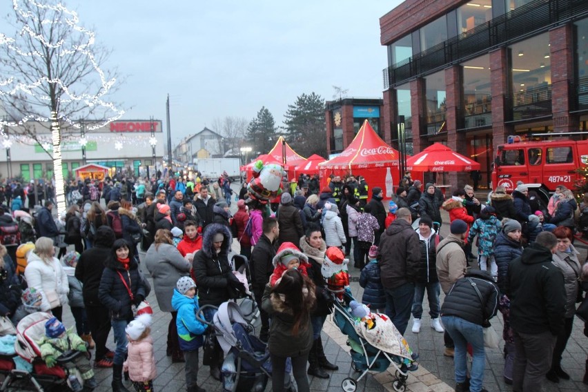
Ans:
{"type": "MultiPolygon", "coordinates": [[[[4,128],[8,136],[1,139],[0,148],[5,154],[0,155],[0,174],[3,178],[21,176],[26,182],[49,180],[53,177],[53,161],[48,124],[27,126],[37,133],[38,141],[27,136],[23,127],[4,128]]],[[[61,156],[65,179],[72,178],[73,170],[84,164],[99,164],[134,175],[146,175],[147,167],[151,175],[162,170],[166,140],[161,120],[118,120],[95,130],[91,128],[92,124],[63,128],[61,156]]]]}

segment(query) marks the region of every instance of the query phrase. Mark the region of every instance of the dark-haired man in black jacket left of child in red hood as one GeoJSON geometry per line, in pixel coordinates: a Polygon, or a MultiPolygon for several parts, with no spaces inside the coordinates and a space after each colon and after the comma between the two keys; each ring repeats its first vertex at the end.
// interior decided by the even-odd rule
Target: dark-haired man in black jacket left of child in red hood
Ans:
{"type": "Polygon", "coordinates": [[[251,252],[251,285],[253,286],[253,294],[255,295],[255,302],[259,307],[259,313],[262,317],[262,330],[259,332],[259,339],[267,342],[269,332],[269,317],[262,309],[262,296],[264,295],[264,288],[273,273],[273,257],[275,256],[276,239],[280,235],[280,226],[277,224],[275,218],[268,217],[264,219],[262,237],[259,242],[255,244],[253,252],[251,252]]]}

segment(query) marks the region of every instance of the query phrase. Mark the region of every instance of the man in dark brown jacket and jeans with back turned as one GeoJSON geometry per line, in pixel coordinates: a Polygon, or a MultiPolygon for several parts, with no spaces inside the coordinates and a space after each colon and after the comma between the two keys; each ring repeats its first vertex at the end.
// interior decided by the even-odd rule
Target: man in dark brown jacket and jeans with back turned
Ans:
{"type": "Polygon", "coordinates": [[[420,263],[420,242],[411,226],[408,208],[399,208],[396,220],[380,237],[380,278],[386,291],[386,315],[402,335],[411,318],[415,281],[420,263]]]}

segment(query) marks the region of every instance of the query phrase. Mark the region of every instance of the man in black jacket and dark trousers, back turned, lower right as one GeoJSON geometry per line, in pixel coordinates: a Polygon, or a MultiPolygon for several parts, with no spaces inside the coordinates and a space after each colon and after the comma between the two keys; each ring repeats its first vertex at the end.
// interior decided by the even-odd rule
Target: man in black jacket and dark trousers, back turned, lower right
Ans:
{"type": "Polygon", "coordinates": [[[507,295],[516,347],[513,390],[542,390],[556,337],[564,328],[565,286],[552,263],[558,240],[542,231],[509,265],[507,295]]]}

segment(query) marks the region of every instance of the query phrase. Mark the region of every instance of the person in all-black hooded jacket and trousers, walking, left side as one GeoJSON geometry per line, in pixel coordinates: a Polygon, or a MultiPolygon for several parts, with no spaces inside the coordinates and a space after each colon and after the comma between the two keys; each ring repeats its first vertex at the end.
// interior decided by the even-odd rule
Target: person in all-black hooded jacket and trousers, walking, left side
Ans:
{"type": "Polygon", "coordinates": [[[98,298],[98,287],[104,272],[104,263],[110,258],[110,248],[115,242],[115,232],[103,225],[97,228],[92,248],[81,253],[75,268],[75,277],[84,287],[82,296],[90,332],[96,344],[95,364],[97,367],[112,367],[112,357],[108,357],[106,340],[110,333],[110,311],[98,298]]]}

